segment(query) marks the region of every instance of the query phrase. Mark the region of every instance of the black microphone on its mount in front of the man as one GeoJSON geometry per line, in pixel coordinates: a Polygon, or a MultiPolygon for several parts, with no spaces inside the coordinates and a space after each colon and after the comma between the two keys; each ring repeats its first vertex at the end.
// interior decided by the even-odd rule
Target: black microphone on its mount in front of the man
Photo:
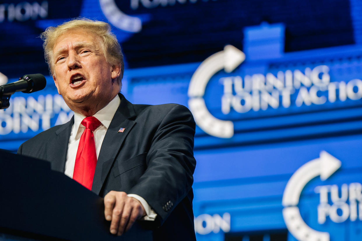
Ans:
{"type": "Polygon", "coordinates": [[[24,75],[18,81],[0,86],[0,109],[9,107],[10,96],[17,91],[33,93],[45,88],[46,79],[42,74],[24,75]]]}

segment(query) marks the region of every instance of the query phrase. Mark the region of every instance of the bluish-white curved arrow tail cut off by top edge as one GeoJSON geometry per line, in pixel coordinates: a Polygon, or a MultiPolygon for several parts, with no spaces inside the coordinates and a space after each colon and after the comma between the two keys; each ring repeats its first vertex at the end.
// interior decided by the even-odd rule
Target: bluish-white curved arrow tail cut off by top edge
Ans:
{"type": "Polygon", "coordinates": [[[138,17],[131,17],[123,13],[114,0],[99,0],[102,12],[108,21],[119,29],[138,33],[142,29],[142,22],[138,17]]]}

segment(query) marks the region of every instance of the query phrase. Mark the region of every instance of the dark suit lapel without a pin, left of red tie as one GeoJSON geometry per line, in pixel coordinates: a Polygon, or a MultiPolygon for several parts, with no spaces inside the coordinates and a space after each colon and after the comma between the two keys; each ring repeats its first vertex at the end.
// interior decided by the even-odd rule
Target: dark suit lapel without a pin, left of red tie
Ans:
{"type": "Polygon", "coordinates": [[[69,137],[74,123],[72,119],[55,131],[55,137],[46,143],[46,157],[51,161],[51,169],[64,173],[69,137]]]}

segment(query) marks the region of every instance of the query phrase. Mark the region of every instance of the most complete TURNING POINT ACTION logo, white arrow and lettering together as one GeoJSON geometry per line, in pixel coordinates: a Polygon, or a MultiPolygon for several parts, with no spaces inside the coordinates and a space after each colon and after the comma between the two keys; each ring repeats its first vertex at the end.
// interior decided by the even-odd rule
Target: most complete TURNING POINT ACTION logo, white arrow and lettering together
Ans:
{"type": "MultiPolygon", "coordinates": [[[[191,77],[188,105],[196,124],[209,135],[231,138],[234,126],[231,121],[215,118],[207,110],[204,100],[207,83],[222,69],[231,73],[244,60],[242,51],[227,45],[223,51],[204,60],[191,77]]],[[[287,69],[276,74],[268,72],[222,77],[219,79],[224,92],[221,112],[227,115],[233,109],[243,114],[281,106],[289,108],[362,99],[361,79],[331,81],[329,71],[329,66],[318,65],[306,67],[304,71],[287,69]]]]}

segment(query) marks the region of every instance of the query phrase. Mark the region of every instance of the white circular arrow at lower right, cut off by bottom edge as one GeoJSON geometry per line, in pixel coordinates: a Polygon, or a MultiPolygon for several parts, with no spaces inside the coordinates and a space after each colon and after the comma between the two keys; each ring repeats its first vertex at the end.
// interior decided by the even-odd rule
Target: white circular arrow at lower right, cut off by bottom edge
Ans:
{"type": "Polygon", "coordinates": [[[309,227],[302,219],[299,208],[300,194],[313,178],[320,176],[326,180],[341,167],[341,161],[326,151],[321,151],[319,158],[308,161],[289,179],[283,193],[283,218],[289,232],[299,241],[329,241],[329,233],[309,227]]]}

